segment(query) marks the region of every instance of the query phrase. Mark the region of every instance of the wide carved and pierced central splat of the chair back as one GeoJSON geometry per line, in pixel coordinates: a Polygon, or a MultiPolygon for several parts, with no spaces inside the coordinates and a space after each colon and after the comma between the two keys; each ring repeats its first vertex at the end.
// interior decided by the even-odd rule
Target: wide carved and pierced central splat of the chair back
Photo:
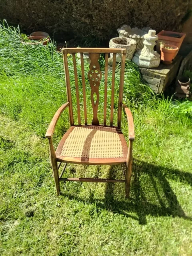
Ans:
{"type": "Polygon", "coordinates": [[[97,118],[98,104],[99,104],[99,85],[101,80],[100,65],[98,59],[100,58],[99,53],[90,53],[89,58],[91,63],[89,65],[88,79],[91,87],[91,103],[93,108],[93,120],[92,125],[99,125],[97,118]],[[94,94],[96,95],[96,101],[94,102],[94,94]]]}

